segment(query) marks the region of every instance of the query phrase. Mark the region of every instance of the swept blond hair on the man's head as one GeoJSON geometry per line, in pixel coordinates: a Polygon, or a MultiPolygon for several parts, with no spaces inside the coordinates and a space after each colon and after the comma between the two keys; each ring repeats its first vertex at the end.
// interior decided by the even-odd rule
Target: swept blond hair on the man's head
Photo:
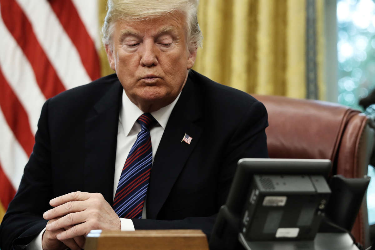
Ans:
{"type": "Polygon", "coordinates": [[[108,0],[107,15],[102,27],[102,41],[111,44],[113,24],[116,21],[142,21],[181,12],[186,22],[186,42],[190,51],[202,46],[197,9],[199,0],[108,0]]]}

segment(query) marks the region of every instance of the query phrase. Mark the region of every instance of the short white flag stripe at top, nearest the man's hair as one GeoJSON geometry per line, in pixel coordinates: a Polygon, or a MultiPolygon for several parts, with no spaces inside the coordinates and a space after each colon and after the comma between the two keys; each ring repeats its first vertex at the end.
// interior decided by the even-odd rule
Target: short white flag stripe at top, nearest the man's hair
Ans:
{"type": "Polygon", "coordinates": [[[77,9],[78,15],[91,39],[94,41],[96,49],[99,50],[102,42],[98,32],[98,0],[72,0],[72,3],[77,9]]]}

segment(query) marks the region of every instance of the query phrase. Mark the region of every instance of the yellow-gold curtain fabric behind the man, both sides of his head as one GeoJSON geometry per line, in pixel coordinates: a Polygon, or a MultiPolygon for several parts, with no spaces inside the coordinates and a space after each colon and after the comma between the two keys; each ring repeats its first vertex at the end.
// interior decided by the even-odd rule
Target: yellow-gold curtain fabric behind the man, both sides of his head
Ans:
{"type": "MultiPolygon", "coordinates": [[[[99,0],[99,19],[106,0],[99,0]]],[[[325,96],[323,0],[316,0],[317,79],[325,96]]],[[[102,22],[102,21],[100,21],[102,22]]],[[[248,93],[306,96],[306,1],[200,0],[204,39],[194,70],[248,93]]],[[[110,74],[102,50],[102,75],[110,74]]]]}

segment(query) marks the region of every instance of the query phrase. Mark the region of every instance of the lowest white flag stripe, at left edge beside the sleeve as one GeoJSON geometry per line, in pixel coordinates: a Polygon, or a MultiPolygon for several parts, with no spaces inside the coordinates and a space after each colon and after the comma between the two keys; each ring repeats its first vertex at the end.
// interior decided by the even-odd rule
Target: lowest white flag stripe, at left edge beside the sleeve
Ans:
{"type": "Polygon", "coordinates": [[[8,180],[17,190],[28,156],[10,130],[3,112],[0,112],[0,138],[1,166],[8,180]]]}

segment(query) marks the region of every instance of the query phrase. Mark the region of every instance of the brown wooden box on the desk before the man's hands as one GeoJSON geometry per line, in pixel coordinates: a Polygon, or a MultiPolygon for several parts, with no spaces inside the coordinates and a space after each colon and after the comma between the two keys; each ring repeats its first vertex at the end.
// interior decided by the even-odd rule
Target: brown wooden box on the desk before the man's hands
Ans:
{"type": "Polygon", "coordinates": [[[208,250],[201,230],[93,230],[86,237],[85,250],[208,250]]]}

